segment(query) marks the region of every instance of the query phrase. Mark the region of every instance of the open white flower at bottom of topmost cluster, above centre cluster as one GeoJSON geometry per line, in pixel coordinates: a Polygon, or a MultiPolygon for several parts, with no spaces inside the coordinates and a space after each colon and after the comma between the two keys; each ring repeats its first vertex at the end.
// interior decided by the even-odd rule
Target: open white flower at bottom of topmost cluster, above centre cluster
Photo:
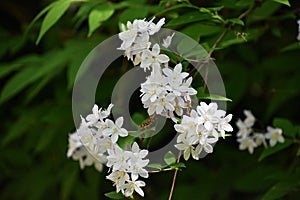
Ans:
{"type": "Polygon", "coordinates": [[[142,61],[140,67],[146,71],[150,67],[159,67],[160,64],[169,62],[169,57],[165,54],[160,54],[160,47],[158,44],[154,44],[152,51],[146,49],[142,53],[142,61]]]}

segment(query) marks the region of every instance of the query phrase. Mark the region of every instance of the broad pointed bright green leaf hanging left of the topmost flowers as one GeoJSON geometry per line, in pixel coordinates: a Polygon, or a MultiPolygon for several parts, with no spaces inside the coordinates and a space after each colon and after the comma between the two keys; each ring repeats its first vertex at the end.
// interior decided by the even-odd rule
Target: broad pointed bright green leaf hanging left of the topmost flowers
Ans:
{"type": "Polygon", "coordinates": [[[114,8],[108,5],[100,5],[94,8],[89,14],[88,37],[90,37],[99,26],[101,26],[102,22],[110,18],[114,12],[114,8]]]}

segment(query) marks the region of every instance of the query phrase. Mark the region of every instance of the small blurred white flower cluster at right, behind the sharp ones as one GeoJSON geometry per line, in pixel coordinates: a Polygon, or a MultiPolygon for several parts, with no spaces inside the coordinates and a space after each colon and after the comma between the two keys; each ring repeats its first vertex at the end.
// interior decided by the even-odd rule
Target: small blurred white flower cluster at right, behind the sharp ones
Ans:
{"type": "Polygon", "coordinates": [[[246,118],[242,121],[239,119],[236,125],[239,129],[237,133],[237,141],[240,143],[239,149],[248,149],[250,154],[253,154],[254,148],[263,145],[268,147],[267,140],[271,147],[275,146],[277,142],[283,143],[284,137],[282,136],[282,130],[280,128],[267,127],[266,133],[260,133],[253,130],[252,126],[255,123],[255,117],[249,110],[244,110],[246,118]]]}

